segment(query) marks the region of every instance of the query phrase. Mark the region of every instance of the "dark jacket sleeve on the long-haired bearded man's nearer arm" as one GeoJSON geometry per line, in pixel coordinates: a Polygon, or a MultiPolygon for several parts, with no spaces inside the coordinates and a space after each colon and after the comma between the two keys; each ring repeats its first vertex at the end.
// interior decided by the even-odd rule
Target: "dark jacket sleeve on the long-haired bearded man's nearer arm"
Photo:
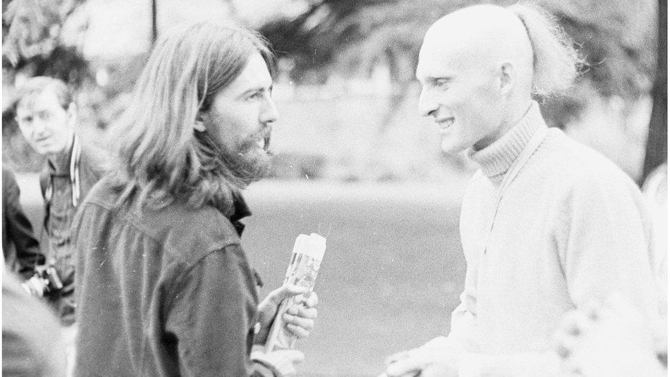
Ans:
{"type": "Polygon", "coordinates": [[[268,369],[249,359],[257,313],[254,282],[237,244],[209,253],[178,280],[165,331],[177,339],[183,376],[268,376],[268,369]]]}

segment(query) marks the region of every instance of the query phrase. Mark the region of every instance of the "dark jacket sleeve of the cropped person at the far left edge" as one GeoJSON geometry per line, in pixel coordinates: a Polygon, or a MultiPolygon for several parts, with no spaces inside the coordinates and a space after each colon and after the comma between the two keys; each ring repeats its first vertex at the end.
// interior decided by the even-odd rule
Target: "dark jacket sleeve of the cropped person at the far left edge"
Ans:
{"type": "Polygon", "coordinates": [[[44,264],[39,242],[34,236],[30,220],[23,213],[14,173],[2,167],[2,253],[10,271],[30,278],[35,266],[44,264]]]}

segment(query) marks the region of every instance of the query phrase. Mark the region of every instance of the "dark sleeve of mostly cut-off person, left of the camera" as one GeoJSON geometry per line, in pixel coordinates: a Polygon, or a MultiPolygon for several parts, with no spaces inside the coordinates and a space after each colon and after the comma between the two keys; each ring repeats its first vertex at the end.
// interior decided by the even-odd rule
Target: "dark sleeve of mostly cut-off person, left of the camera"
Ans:
{"type": "Polygon", "coordinates": [[[34,273],[36,265],[45,263],[40,245],[32,231],[30,220],[25,216],[19,196],[21,191],[16,184],[14,173],[3,169],[3,208],[5,229],[8,239],[16,249],[16,260],[19,262],[19,274],[27,279],[34,273]]]}

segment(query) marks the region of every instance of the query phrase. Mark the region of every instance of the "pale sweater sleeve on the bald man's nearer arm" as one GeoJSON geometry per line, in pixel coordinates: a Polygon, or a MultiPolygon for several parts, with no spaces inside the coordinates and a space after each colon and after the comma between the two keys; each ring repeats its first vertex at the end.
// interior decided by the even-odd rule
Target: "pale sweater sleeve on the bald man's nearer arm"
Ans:
{"type": "Polygon", "coordinates": [[[575,307],[614,294],[656,319],[651,222],[632,181],[582,177],[566,195],[555,236],[575,307]]]}

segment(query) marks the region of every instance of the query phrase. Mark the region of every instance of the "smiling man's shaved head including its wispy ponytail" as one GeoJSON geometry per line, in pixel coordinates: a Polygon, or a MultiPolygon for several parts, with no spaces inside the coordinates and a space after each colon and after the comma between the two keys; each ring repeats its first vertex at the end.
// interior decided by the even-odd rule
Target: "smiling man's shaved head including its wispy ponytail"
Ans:
{"type": "Polygon", "coordinates": [[[474,5],[443,16],[419,52],[419,109],[433,117],[445,152],[486,148],[530,108],[562,91],[576,53],[551,16],[527,5],[474,5]]]}

